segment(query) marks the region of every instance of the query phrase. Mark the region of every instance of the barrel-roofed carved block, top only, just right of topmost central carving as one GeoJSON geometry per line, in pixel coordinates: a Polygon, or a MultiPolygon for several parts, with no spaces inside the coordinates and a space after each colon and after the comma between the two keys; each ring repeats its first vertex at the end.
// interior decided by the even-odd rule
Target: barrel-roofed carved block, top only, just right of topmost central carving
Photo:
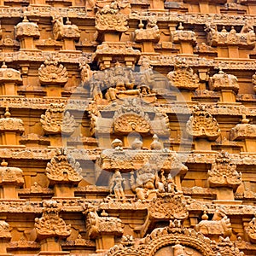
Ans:
{"type": "Polygon", "coordinates": [[[146,29],[143,29],[143,22],[140,20],[139,29],[135,31],[135,41],[137,42],[145,42],[151,41],[154,43],[158,43],[160,40],[160,30],[157,23],[157,16],[149,16],[147,20],[146,29]]]}

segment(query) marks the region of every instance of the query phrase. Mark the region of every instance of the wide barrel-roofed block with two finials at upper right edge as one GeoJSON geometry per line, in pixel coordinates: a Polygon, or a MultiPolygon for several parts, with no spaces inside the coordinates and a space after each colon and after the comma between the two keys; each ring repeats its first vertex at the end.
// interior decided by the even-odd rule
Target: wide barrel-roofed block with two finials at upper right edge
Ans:
{"type": "Polygon", "coordinates": [[[218,32],[217,26],[207,24],[205,31],[207,32],[207,43],[210,46],[226,46],[236,45],[239,47],[253,49],[256,42],[256,36],[253,30],[253,20],[247,20],[247,23],[241,28],[241,32],[236,32],[234,26],[228,32],[223,27],[218,32]]]}

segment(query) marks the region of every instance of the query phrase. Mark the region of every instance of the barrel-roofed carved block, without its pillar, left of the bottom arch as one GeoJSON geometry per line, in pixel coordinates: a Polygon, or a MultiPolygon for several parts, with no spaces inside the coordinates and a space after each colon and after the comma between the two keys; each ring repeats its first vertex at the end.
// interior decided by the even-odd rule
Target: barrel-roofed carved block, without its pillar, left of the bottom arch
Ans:
{"type": "MultiPolygon", "coordinates": [[[[103,213],[103,212],[102,212],[103,213]]],[[[122,222],[119,218],[108,217],[108,213],[104,212],[105,217],[99,217],[96,210],[93,209],[87,214],[86,227],[90,238],[98,236],[122,236],[122,222]]]]}

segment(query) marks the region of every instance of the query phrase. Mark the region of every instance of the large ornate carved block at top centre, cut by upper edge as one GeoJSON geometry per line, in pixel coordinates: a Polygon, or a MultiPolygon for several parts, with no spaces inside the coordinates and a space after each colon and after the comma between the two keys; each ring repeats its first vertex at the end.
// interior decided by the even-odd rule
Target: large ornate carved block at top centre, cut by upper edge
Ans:
{"type": "Polygon", "coordinates": [[[96,29],[100,32],[125,32],[128,30],[128,17],[119,12],[118,1],[104,5],[96,13],[96,29]]]}

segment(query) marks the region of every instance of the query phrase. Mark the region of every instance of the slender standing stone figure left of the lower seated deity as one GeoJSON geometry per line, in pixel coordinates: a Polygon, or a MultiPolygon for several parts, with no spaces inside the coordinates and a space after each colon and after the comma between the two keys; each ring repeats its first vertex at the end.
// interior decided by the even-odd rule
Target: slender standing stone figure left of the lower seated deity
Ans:
{"type": "Polygon", "coordinates": [[[117,199],[125,199],[123,186],[125,185],[125,178],[122,177],[119,170],[113,173],[109,182],[110,193],[113,192],[117,199]]]}

